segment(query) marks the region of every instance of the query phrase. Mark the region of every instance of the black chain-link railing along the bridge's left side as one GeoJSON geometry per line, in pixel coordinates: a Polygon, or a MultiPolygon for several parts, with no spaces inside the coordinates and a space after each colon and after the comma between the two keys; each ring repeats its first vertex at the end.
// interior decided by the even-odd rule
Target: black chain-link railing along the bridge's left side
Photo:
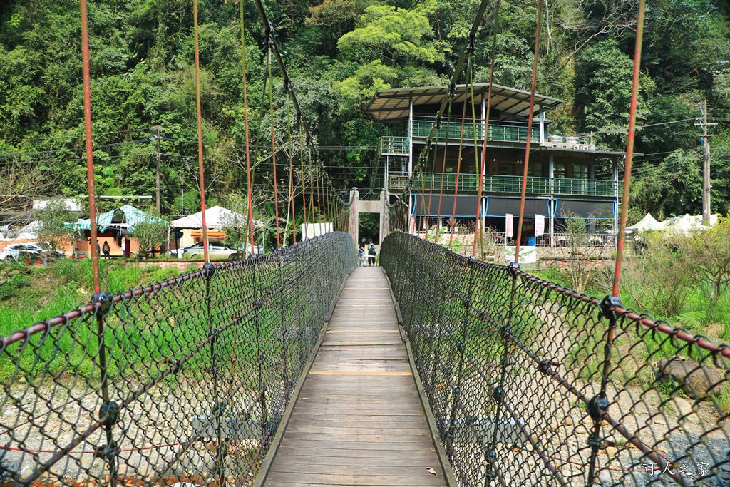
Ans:
{"type": "Polygon", "coordinates": [[[330,233],[0,337],[0,481],[250,485],[355,262],[330,233]]]}

